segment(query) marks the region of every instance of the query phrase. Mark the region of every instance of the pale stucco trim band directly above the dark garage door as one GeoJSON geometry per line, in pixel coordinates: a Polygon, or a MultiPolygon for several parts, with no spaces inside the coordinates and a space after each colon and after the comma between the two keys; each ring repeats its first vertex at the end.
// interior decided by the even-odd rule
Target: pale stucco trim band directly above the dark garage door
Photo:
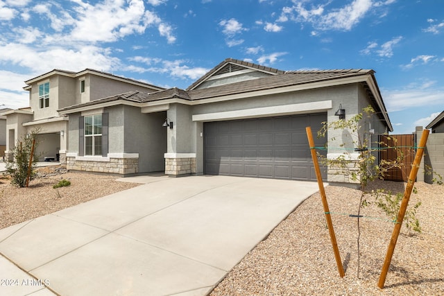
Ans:
{"type": "Polygon", "coordinates": [[[281,116],[290,114],[305,114],[313,112],[321,112],[332,109],[333,102],[318,101],[309,103],[279,105],[271,107],[259,107],[252,109],[226,111],[217,113],[205,113],[193,115],[193,121],[221,121],[226,119],[248,119],[266,116],[281,116]]]}

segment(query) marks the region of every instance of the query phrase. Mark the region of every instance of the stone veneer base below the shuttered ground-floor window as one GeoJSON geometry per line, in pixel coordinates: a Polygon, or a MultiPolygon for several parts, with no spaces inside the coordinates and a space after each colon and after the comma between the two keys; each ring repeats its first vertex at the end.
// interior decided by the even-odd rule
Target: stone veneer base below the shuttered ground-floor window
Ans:
{"type": "Polygon", "coordinates": [[[76,157],[66,157],[67,169],[99,173],[114,173],[120,175],[139,173],[139,158],[113,158],[109,162],[94,160],[76,160],[76,157]]]}

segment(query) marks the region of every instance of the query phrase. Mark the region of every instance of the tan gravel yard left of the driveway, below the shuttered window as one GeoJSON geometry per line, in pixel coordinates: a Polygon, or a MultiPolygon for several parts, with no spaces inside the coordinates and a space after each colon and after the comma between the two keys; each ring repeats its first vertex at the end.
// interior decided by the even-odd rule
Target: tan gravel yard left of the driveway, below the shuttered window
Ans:
{"type": "Polygon", "coordinates": [[[60,166],[37,171],[40,177],[28,188],[17,188],[8,176],[0,177],[0,229],[140,185],[117,182],[118,177],[112,175],[66,172],[60,166]],[[53,189],[62,179],[71,185],[53,189]]]}

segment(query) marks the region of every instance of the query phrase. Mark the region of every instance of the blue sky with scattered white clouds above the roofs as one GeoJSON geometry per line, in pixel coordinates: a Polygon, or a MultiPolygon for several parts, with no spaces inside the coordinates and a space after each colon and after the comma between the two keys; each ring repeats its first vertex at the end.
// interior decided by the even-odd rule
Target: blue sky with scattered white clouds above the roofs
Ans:
{"type": "Polygon", "coordinates": [[[0,104],[24,80],[97,69],[186,88],[225,58],[373,69],[395,133],[444,110],[442,0],[0,0],[0,104]]]}

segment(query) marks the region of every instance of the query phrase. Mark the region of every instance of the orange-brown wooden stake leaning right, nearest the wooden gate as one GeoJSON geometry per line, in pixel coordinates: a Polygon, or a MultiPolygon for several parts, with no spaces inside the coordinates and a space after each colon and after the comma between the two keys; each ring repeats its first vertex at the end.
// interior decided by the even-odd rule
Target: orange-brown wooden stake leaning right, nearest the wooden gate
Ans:
{"type": "Polygon", "coordinates": [[[425,145],[427,143],[427,138],[429,137],[429,130],[422,130],[421,141],[416,151],[416,157],[411,165],[411,172],[409,175],[409,182],[404,191],[404,197],[400,205],[400,211],[398,213],[398,218],[396,219],[395,227],[393,227],[393,232],[391,234],[390,243],[388,244],[388,250],[386,254],[386,259],[384,265],[382,266],[381,275],[379,276],[379,281],[377,286],[379,288],[384,288],[386,282],[388,268],[390,267],[391,258],[393,252],[395,251],[396,242],[398,241],[398,236],[400,235],[400,230],[402,226],[402,221],[404,220],[405,212],[407,211],[407,205],[409,204],[409,199],[411,191],[413,190],[413,184],[415,184],[416,175],[418,175],[419,165],[421,163],[422,154],[424,153],[425,145]]]}

